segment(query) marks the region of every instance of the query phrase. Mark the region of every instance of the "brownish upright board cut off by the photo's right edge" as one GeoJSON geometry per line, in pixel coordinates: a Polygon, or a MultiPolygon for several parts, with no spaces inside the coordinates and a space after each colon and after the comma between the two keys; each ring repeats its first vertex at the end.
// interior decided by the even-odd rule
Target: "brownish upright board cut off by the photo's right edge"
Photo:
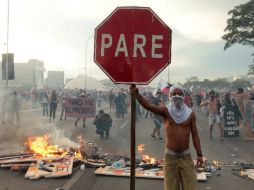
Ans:
{"type": "Polygon", "coordinates": [[[254,140],[254,100],[244,102],[245,107],[245,125],[243,129],[244,140],[254,140]]]}

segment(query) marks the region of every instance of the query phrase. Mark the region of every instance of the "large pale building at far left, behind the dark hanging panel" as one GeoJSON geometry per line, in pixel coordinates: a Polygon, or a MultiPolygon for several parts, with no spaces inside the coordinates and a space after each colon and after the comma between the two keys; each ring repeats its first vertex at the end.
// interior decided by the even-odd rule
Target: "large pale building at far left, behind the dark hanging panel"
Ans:
{"type": "MultiPolygon", "coordinates": [[[[0,67],[2,80],[2,67],[0,67]]],[[[10,86],[42,87],[44,83],[44,62],[29,59],[28,63],[14,63],[15,79],[9,81],[10,86]]],[[[5,84],[5,80],[2,80],[5,84]]]]}

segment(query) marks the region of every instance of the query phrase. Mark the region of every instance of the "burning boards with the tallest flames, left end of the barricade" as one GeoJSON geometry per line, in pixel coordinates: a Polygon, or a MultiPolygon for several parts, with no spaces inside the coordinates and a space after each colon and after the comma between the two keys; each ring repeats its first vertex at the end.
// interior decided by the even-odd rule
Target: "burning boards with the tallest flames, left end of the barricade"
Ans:
{"type": "Polygon", "coordinates": [[[0,157],[2,168],[12,171],[27,170],[25,178],[63,177],[72,174],[75,163],[83,160],[80,148],[62,149],[49,144],[50,135],[29,137],[23,154],[0,157]]]}

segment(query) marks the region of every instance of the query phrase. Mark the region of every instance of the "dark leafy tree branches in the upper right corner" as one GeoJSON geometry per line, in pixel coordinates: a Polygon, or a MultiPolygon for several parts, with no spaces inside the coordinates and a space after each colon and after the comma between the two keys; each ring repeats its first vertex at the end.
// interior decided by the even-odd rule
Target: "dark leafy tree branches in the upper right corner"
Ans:
{"type": "Polygon", "coordinates": [[[226,40],[224,50],[236,43],[254,47],[254,0],[236,6],[228,14],[232,17],[227,20],[228,33],[222,36],[226,40]]]}

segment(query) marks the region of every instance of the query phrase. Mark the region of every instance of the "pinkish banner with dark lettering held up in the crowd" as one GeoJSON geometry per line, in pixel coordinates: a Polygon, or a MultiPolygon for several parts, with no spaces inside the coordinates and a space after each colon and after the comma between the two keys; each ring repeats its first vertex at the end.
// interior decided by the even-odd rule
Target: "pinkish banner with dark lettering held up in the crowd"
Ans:
{"type": "Polygon", "coordinates": [[[65,98],[66,117],[95,118],[95,98],[65,98]]]}

